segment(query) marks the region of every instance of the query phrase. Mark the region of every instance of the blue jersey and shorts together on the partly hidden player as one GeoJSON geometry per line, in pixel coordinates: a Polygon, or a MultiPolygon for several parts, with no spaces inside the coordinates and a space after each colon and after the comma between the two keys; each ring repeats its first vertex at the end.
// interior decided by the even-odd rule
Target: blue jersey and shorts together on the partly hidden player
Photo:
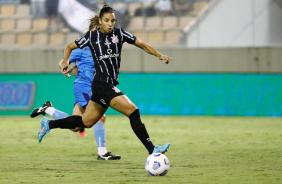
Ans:
{"type": "Polygon", "coordinates": [[[85,108],[91,99],[91,83],[93,81],[94,61],[89,47],[75,49],[71,52],[70,63],[76,62],[78,72],[74,81],[75,103],[85,108]]]}

